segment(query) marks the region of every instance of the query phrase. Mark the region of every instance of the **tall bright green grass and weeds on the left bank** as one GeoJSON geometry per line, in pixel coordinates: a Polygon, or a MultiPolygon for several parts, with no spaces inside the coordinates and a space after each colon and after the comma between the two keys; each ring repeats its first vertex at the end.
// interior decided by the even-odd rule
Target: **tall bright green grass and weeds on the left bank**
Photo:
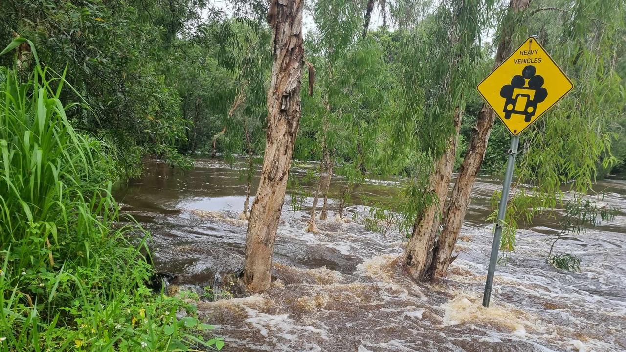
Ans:
{"type": "Polygon", "coordinates": [[[30,44],[30,75],[0,68],[0,350],[221,348],[197,337],[211,326],[193,306],[145,287],[147,234],[118,225],[115,160],[74,130],[64,73],[42,68],[30,44]]]}

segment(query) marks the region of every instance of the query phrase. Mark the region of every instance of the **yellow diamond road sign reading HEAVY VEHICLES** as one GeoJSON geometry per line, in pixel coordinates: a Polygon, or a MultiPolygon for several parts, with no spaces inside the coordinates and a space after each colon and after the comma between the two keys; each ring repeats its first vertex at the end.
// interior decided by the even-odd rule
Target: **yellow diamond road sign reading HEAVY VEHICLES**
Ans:
{"type": "Polygon", "coordinates": [[[572,87],[563,70],[531,37],[478,85],[478,91],[516,136],[572,87]]]}

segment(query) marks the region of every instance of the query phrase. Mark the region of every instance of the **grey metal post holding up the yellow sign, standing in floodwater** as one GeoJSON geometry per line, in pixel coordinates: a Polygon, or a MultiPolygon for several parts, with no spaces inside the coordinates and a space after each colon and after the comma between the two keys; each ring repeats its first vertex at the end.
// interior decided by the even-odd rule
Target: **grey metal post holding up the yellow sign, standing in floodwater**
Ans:
{"type": "Polygon", "coordinates": [[[489,258],[489,270],[487,271],[487,282],[485,283],[485,294],[483,294],[483,306],[489,306],[491,298],[491,286],[493,286],[493,274],[496,271],[498,263],[498,250],[500,249],[500,237],[502,236],[501,223],[505,219],[506,202],[508,194],[511,190],[511,179],[513,179],[513,169],[515,169],[515,157],[517,155],[517,146],[520,143],[520,136],[511,137],[511,148],[508,150],[508,161],[506,162],[505,181],[502,185],[502,195],[500,197],[500,205],[498,206],[498,220],[496,221],[496,230],[493,233],[493,244],[491,245],[491,257],[489,258]]]}

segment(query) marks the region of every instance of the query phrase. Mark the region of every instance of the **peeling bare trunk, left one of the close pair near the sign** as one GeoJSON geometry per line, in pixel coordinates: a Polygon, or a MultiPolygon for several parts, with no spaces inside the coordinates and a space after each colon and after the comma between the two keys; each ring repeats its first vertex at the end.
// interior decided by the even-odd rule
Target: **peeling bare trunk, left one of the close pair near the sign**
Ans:
{"type": "Polygon", "coordinates": [[[425,192],[431,192],[436,199],[433,204],[425,207],[421,214],[416,217],[413,235],[409,239],[404,254],[404,265],[415,280],[426,279],[430,274],[429,269],[433,262],[434,240],[439,231],[441,214],[452,179],[456,142],[461,127],[461,112],[458,107],[454,111],[453,124],[455,132],[449,137],[446,152],[439,157],[433,173],[431,173],[429,189],[424,190],[424,195],[426,195],[425,192]]]}

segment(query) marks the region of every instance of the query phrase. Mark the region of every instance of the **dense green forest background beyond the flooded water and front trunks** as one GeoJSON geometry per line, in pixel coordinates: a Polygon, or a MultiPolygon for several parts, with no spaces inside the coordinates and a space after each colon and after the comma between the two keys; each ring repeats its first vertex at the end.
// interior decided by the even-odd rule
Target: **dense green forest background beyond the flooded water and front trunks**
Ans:
{"type": "MultiPolygon", "coordinates": [[[[316,23],[305,36],[305,53],[316,70],[317,83],[313,96],[304,98],[295,158],[322,160],[322,139],[327,138],[331,157],[339,165],[411,175],[419,168],[411,153],[395,155],[391,170],[381,170],[381,160],[391,160],[386,152],[394,120],[404,108],[406,87],[401,83],[406,70],[414,70],[413,79],[426,86],[414,92],[416,99],[428,98],[423,95],[432,90],[428,85],[437,84],[424,73],[438,68],[416,45],[424,46],[434,38],[438,15],[424,5],[394,7],[379,2],[374,13],[384,15],[384,22],[363,37],[367,2],[329,2],[327,8],[322,3],[305,9],[305,16],[316,23]],[[331,21],[333,14],[341,21],[331,21]],[[416,70],[418,65],[421,71],[416,70]]],[[[535,10],[552,3],[563,7],[558,1],[545,3],[536,4],[535,10]]],[[[57,73],[67,66],[66,79],[72,88],[66,87],[62,96],[83,102],[69,109],[69,120],[75,128],[103,140],[125,172],[136,175],[141,157],[148,155],[180,166],[189,165],[186,156],[194,153],[245,155],[250,150],[244,123],[251,152],[262,153],[271,39],[266,13],[264,1],[235,1],[228,8],[197,0],[6,1],[0,14],[0,38],[8,44],[19,34],[33,41],[44,65],[57,73]]],[[[544,17],[538,21],[565,13],[533,14],[533,18],[540,16],[544,17]]],[[[584,16],[590,26],[604,25],[601,19],[584,16]]],[[[486,20],[495,23],[496,18],[486,20]]],[[[543,30],[538,34],[544,45],[568,71],[575,53],[563,43],[565,34],[555,28],[543,30]],[[562,45],[567,48],[560,50],[562,45]]],[[[475,62],[467,72],[469,88],[491,70],[492,41],[497,35],[495,28],[483,33],[481,51],[473,53],[475,62]]],[[[20,55],[18,65],[28,70],[32,60],[20,55]]],[[[2,65],[11,66],[12,61],[12,56],[0,57],[2,65]]],[[[623,76],[623,60],[618,66],[623,76]]],[[[473,91],[464,103],[457,165],[482,101],[473,91]]],[[[601,176],[626,168],[626,120],[623,113],[614,115],[606,128],[612,135],[607,135],[606,150],[597,162],[608,155],[614,159],[600,168],[601,176]]],[[[508,138],[505,128],[496,123],[483,172],[503,168],[508,138]]],[[[347,167],[337,171],[350,173],[347,167]]]]}

